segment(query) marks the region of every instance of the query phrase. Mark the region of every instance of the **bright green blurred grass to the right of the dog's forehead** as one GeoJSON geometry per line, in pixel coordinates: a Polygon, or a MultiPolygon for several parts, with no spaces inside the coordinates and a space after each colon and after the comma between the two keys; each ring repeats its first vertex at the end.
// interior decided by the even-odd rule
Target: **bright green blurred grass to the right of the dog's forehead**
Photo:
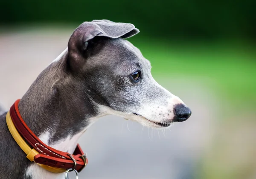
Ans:
{"type": "MultiPolygon", "coordinates": [[[[233,107],[256,106],[256,46],[243,41],[130,40],[151,61],[152,74],[199,80],[233,107]],[[242,102],[242,104],[241,104],[242,102]]],[[[228,115],[228,114],[227,114],[228,115]]]]}

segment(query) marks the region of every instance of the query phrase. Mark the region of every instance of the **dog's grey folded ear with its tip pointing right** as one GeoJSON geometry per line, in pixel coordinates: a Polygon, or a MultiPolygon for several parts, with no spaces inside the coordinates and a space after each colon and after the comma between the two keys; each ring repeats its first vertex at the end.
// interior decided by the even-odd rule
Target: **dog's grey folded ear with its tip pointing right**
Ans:
{"type": "Polygon", "coordinates": [[[79,70],[85,63],[84,53],[94,37],[128,38],[140,31],[130,23],[114,23],[110,20],[93,20],[82,23],[68,42],[68,62],[72,70],[79,70]]]}

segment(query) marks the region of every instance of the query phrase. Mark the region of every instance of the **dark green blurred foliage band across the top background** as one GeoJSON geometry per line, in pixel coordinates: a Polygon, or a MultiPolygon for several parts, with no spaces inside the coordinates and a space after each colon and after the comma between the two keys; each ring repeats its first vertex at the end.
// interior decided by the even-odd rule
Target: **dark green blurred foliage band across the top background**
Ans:
{"type": "Polygon", "coordinates": [[[155,37],[256,38],[255,0],[15,0],[0,1],[0,23],[134,23],[155,37]]]}

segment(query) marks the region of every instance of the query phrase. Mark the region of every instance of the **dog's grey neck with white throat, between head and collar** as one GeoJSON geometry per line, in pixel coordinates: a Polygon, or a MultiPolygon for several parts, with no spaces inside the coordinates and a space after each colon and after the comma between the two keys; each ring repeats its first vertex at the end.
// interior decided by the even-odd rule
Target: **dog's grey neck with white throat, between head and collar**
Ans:
{"type": "Polygon", "coordinates": [[[81,134],[102,116],[86,86],[65,72],[67,54],[38,76],[19,103],[29,128],[45,144],[72,153],[81,134]]]}

